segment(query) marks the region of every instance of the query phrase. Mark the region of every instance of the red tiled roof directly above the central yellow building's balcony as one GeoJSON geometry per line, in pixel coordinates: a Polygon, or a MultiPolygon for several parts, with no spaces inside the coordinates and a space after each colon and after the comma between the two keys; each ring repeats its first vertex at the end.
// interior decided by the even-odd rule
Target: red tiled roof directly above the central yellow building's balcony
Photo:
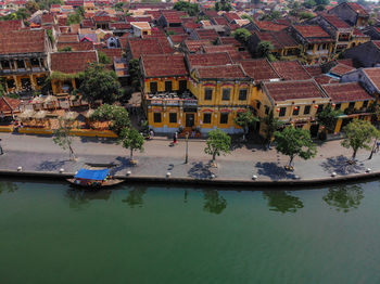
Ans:
{"type": "Polygon", "coordinates": [[[142,55],[145,77],[186,76],[188,74],[182,54],[142,55]]]}

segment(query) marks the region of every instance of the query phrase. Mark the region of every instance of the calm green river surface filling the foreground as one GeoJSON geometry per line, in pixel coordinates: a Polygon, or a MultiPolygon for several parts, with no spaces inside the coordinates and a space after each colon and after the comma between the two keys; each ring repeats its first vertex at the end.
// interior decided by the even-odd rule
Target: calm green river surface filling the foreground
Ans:
{"type": "Polygon", "coordinates": [[[0,182],[0,283],[380,283],[380,182],[301,191],[0,182]]]}

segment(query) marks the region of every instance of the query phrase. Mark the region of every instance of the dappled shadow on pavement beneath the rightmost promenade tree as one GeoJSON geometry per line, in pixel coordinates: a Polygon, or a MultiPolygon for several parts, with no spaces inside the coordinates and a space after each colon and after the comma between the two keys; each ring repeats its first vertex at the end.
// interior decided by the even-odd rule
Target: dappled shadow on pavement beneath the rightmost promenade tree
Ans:
{"type": "Polygon", "coordinates": [[[356,162],[354,165],[350,165],[347,162],[350,159],[343,155],[338,157],[327,158],[326,162],[321,163],[320,166],[327,172],[337,172],[338,175],[352,175],[352,173],[360,173],[365,171],[365,167],[359,162],[356,162]],[[359,164],[358,164],[359,163],[359,164]]]}

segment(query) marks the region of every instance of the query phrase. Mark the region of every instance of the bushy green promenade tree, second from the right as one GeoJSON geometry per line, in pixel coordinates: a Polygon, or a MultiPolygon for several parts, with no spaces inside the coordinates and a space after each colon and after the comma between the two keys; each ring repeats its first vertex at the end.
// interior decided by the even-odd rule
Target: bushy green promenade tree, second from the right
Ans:
{"type": "Polygon", "coordinates": [[[313,143],[311,132],[287,127],[281,132],[275,132],[275,142],[277,152],[289,156],[289,167],[292,167],[294,157],[300,156],[303,159],[309,159],[317,154],[316,145],[313,143]]]}

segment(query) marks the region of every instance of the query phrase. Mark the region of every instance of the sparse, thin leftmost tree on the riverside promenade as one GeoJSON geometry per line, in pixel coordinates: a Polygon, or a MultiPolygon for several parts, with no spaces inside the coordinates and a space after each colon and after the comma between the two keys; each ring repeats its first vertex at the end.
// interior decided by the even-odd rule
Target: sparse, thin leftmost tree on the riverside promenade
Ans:
{"type": "Polygon", "coordinates": [[[71,130],[73,129],[73,119],[59,119],[59,128],[54,130],[53,141],[63,150],[68,150],[69,159],[75,160],[75,154],[73,150],[73,135],[71,130]]]}

